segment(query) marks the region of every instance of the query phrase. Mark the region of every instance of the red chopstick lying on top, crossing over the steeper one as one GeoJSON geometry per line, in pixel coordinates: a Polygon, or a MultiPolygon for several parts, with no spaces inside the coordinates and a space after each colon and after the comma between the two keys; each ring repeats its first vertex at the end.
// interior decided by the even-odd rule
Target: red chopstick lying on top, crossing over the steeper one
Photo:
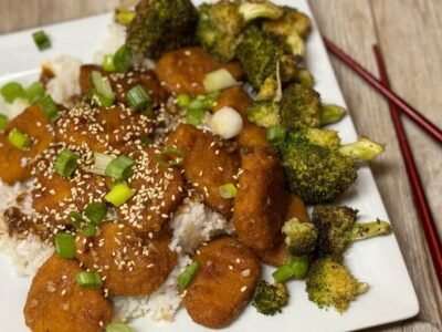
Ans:
{"type": "Polygon", "coordinates": [[[430,136],[432,136],[438,143],[442,144],[442,131],[432,124],[427,117],[421,113],[410,106],[406,101],[403,101],[399,95],[392,92],[389,87],[385,86],[379,80],[377,80],[372,74],[370,74],[366,69],[364,69],[359,63],[347,55],[337,45],[330,42],[328,39],[324,38],[324,43],[329,52],[335,54],[339,60],[346,63],[351,70],[354,70],[359,76],[366,80],[372,87],[380,92],[385,97],[398,106],[399,111],[407,114],[412,121],[414,121],[419,126],[422,127],[430,136]]]}

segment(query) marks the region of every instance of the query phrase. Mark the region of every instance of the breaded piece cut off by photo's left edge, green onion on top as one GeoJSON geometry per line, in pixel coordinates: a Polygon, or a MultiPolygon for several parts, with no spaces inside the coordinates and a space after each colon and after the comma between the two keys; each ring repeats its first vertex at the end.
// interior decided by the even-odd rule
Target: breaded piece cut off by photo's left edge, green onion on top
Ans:
{"type": "Polygon", "coordinates": [[[40,106],[30,106],[24,110],[0,133],[0,179],[12,185],[29,178],[30,165],[53,139],[53,129],[43,110],[40,106]],[[9,143],[8,135],[14,128],[32,139],[29,148],[20,149],[9,143]]]}

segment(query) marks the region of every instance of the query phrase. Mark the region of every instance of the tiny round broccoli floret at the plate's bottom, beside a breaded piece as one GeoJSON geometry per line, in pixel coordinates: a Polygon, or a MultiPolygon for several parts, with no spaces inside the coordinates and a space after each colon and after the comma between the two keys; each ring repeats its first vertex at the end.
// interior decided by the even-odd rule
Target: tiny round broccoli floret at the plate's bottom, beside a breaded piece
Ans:
{"type": "Polygon", "coordinates": [[[265,280],[256,284],[253,293],[252,305],[257,312],[273,315],[288,302],[288,292],[284,283],[269,283],[265,280]]]}

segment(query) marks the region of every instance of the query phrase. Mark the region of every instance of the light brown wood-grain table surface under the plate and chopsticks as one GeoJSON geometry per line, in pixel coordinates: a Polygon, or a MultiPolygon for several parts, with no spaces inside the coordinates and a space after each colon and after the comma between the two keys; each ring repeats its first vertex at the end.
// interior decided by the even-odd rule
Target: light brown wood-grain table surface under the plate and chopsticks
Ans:
{"type": "MultiPolygon", "coordinates": [[[[0,33],[101,13],[112,10],[120,2],[123,1],[1,0],[0,33]]],[[[378,43],[383,51],[393,90],[442,127],[441,0],[309,2],[324,35],[373,73],[377,72],[377,66],[372,45],[378,43]]],[[[371,167],[421,305],[417,318],[375,330],[441,331],[442,292],[419,225],[388,105],[350,70],[336,59],[332,60],[358,133],[387,143],[387,153],[372,163],[371,167]]],[[[442,234],[441,147],[415,125],[407,120],[404,122],[435,221],[442,234]]]]}

